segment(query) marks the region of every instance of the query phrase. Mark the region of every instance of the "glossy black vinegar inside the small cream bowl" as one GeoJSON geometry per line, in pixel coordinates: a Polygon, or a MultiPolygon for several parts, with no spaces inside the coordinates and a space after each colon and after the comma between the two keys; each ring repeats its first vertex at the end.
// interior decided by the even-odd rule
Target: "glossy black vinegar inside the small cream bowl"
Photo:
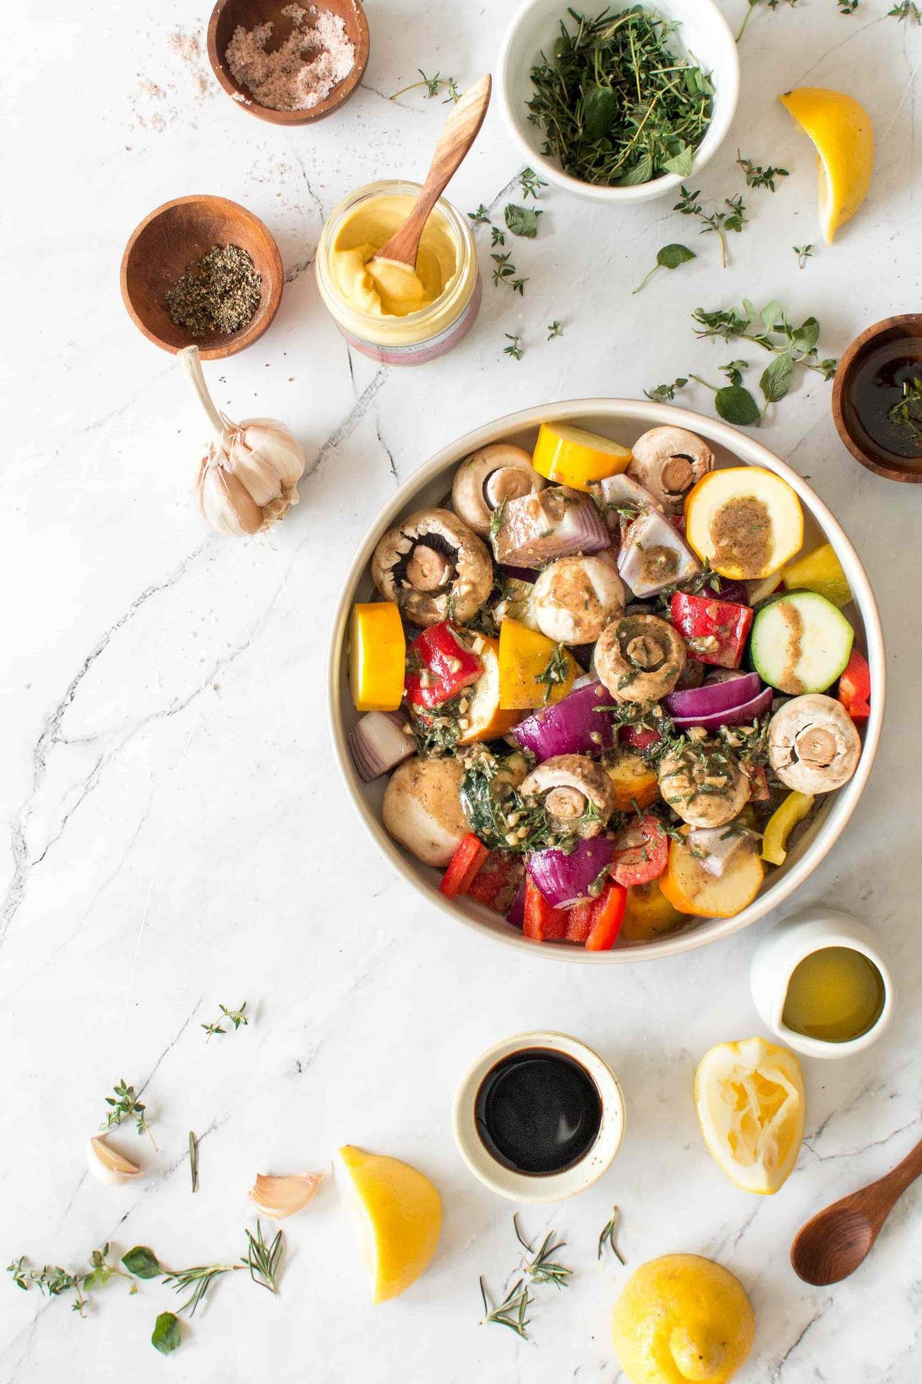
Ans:
{"type": "Polygon", "coordinates": [[[541,1176],[563,1172],[586,1157],[602,1124],[602,1100],[572,1057],[550,1048],[523,1048],[486,1074],[473,1116],[497,1163],[541,1176]]]}

